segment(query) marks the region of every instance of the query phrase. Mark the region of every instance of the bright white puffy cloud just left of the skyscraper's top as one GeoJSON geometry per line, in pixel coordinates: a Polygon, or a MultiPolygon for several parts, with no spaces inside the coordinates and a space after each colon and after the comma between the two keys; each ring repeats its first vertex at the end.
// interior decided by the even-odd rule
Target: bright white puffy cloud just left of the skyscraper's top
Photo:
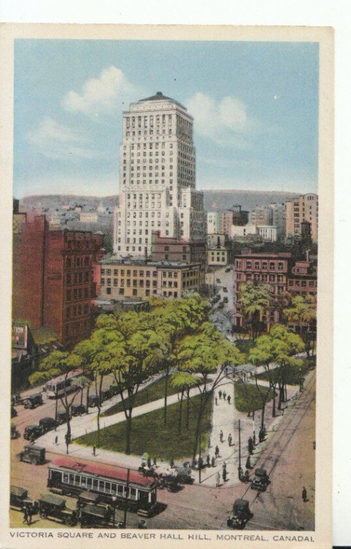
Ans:
{"type": "Polygon", "coordinates": [[[102,71],[100,78],[91,78],[84,82],[81,93],[69,91],[63,98],[63,107],[70,112],[94,117],[112,113],[119,103],[138,92],[137,87],[128,81],[121,69],[111,66],[102,71]]]}

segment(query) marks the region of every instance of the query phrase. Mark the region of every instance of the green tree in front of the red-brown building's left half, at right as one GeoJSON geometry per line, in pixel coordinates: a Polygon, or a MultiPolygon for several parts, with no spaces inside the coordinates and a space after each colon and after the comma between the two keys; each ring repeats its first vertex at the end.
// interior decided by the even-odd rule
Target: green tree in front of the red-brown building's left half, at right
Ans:
{"type": "Polygon", "coordinates": [[[271,286],[247,282],[240,285],[239,303],[241,314],[247,324],[251,326],[253,341],[262,331],[262,314],[269,309],[272,303],[271,286]]]}

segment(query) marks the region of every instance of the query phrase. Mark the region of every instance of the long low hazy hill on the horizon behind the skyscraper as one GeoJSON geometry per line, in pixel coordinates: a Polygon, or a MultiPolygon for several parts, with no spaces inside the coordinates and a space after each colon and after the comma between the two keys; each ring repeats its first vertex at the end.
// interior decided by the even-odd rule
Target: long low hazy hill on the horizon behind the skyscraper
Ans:
{"type": "MultiPolygon", "coordinates": [[[[268,206],[271,202],[278,204],[291,200],[299,193],[280,191],[241,191],[241,190],[204,190],[204,206],[207,211],[221,211],[230,208],[235,204],[242,206],[242,209],[251,211],[256,205],[268,206]]],[[[115,207],[118,205],[118,196],[82,196],[70,194],[47,194],[25,196],[20,204],[25,209],[42,207],[43,209],[60,209],[63,205],[73,207],[80,205],[86,208],[95,208],[102,203],[104,207],[115,207]]]]}

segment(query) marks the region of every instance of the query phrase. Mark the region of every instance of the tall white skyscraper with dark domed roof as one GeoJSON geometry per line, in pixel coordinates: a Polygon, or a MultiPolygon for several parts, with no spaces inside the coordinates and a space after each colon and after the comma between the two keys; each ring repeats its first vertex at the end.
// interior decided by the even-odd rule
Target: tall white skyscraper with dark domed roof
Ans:
{"type": "Polygon", "coordinates": [[[205,242],[203,193],[196,191],[193,118],[160,91],[123,113],[120,205],[115,212],[114,253],[151,252],[152,232],[205,242]]]}

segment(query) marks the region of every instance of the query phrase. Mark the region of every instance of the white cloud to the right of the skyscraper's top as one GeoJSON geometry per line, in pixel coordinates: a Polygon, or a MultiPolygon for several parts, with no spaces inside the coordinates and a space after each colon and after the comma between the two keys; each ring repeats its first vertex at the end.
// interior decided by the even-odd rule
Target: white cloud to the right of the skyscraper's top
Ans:
{"type": "Polygon", "coordinates": [[[245,103],[230,95],[216,102],[210,95],[198,92],[185,105],[194,117],[195,132],[223,147],[246,148],[249,134],[259,127],[258,121],[247,114],[245,103]]]}

